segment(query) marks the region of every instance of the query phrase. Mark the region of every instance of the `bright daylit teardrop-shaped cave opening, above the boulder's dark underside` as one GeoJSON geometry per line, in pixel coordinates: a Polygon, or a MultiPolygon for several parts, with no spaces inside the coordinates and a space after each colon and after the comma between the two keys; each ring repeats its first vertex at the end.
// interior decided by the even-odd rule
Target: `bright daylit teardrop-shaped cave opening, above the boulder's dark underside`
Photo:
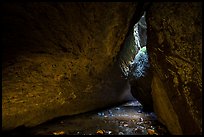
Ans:
{"type": "Polygon", "coordinates": [[[120,54],[120,68],[127,79],[139,79],[149,68],[145,14],[134,25],[120,54]]]}

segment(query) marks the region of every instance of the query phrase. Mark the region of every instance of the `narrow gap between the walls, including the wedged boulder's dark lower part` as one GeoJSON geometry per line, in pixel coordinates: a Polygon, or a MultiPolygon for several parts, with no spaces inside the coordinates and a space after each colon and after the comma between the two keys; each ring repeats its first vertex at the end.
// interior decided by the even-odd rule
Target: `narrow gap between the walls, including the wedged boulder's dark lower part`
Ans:
{"type": "Polygon", "coordinates": [[[133,26],[120,52],[119,64],[123,76],[130,83],[132,95],[146,111],[153,111],[151,70],[148,60],[146,12],[133,26]]]}

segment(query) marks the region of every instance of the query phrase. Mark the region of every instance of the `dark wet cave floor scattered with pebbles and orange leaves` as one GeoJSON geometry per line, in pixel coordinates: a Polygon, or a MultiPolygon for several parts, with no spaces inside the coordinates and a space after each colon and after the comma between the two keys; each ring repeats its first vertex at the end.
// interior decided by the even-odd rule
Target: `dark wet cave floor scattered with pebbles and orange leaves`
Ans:
{"type": "MultiPolygon", "coordinates": [[[[144,112],[141,104],[129,101],[105,110],[51,120],[24,130],[32,135],[168,135],[153,112],[144,112]]],[[[16,132],[13,134],[20,134],[16,132]]],[[[22,132],[21,132],[22,134],[22,132]]]]}

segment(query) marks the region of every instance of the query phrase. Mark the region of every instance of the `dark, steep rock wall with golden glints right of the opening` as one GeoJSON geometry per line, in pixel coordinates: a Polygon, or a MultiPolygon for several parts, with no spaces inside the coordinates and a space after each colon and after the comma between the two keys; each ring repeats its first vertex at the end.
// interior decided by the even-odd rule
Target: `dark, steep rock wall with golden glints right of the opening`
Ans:
{"type": "Polygon", "coordinates": [[[202,4],[153,3],[147,30],[159,119],[172,134],[201,134],[202,4]]]}

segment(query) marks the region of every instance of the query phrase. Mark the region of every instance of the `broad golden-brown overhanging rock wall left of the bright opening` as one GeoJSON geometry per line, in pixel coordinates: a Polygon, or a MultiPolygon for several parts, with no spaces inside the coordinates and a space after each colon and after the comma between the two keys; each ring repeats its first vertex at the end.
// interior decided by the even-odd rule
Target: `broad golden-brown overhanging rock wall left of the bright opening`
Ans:
{"type": "Polygon", "coordinates": [[[140,6],[3,3],[3,130],[130,99],[115,57],[140,6]]]}

